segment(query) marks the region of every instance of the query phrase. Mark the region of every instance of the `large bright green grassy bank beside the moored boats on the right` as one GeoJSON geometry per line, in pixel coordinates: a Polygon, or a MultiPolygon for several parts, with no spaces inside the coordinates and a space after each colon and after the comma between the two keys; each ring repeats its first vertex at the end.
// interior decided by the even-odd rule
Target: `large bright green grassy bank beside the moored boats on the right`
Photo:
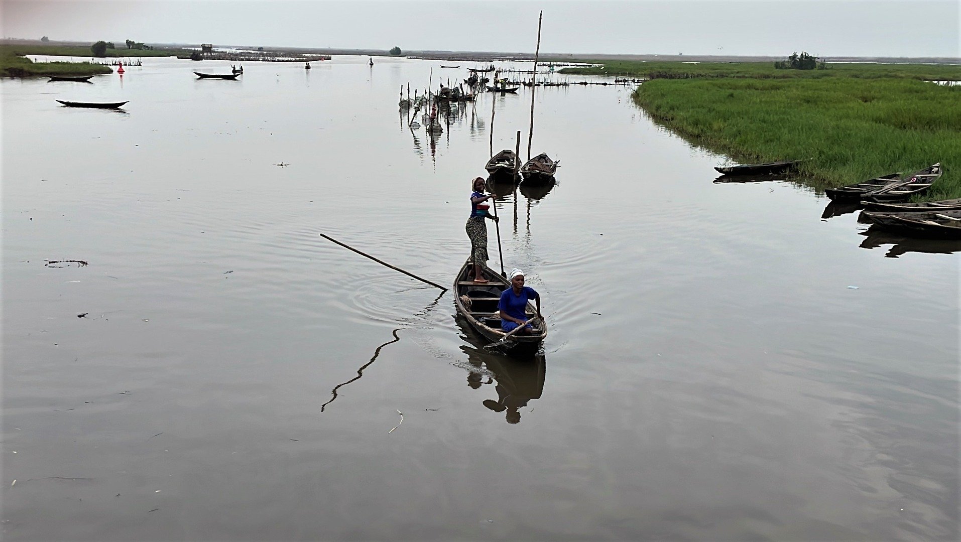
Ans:
{"type": "MultiPolygon", "coordinates": [[[[604,62],[598,62],[604,63],[604,62]]],[[[649,79],[634,101],[692,143],[743,162],[813,159],[816,188],[849,185],[940,161],[925,200],[961,198],[961,66],[773,62],[608,62],[578,73],[649,79]],[[605,69],[606,68],[606,69],[605,69]]],[[[567,68],[565,68],[567,72],[567,68]]]]}

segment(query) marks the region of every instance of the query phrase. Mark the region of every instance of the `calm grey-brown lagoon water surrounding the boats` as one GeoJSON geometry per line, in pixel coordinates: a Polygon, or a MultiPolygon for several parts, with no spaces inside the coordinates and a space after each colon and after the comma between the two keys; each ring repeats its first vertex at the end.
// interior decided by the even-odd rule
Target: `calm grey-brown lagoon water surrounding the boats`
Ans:
{"type": "Polygon", "coordinates": [[[530,90],[429,137],[398,90],[466,71],[366,62],[0,83],[5,539],[957,538],[957,245],[542,88],[557,184],[498,212],[550,335],[491,355],[318,233],[453,282],[530,90]]]}

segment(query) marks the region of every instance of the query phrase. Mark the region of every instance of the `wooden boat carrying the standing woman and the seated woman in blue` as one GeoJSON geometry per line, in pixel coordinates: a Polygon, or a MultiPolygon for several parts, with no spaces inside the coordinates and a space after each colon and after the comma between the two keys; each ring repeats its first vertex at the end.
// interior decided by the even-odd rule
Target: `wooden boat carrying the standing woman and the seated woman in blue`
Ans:
{"type": "MultiPolygon", "coordinates": [[[[486,265],[480,264],[481,276],[487,283],[474,282],[474,264],[465,261],[454,281],[456,293],[454,303],[457,313],[467,320],[472,328],[491,341],[499,341],[506,334],[501,329],[501,318],[497,315],[497,306],[501,301],[501,294],[510,287],[504,277],[498,275],[486,265]]],[[[528,319],[537,314],[536,309],[528,303],[528,319]]],[[[547,336],[547,326],[543,321],[531,324],[534,328],[530,335],[513,334],[502,347],[514,352],[516,350],[536,350],[547,336]]]]}

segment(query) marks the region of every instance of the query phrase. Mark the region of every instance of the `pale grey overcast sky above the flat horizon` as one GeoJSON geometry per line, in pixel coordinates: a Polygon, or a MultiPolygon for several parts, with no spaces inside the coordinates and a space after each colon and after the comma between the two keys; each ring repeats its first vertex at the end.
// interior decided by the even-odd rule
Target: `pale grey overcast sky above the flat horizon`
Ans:
{"type": "Polygon", "coordinates": [[[3,37],[551,53],[961,57],[958,0],[0,0],[3,37]]]}

